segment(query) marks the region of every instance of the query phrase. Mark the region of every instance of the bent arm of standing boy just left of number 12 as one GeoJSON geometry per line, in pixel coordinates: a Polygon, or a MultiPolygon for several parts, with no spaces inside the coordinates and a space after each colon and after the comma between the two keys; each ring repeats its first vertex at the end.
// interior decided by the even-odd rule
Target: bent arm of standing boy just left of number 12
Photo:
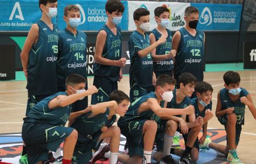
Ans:
{"type": "MultiPolygon", "coordinates": [[[[155,35],[150,33],[150,45],[155,43],[155,35]]],[[[171,50],[168,54],[156,54],[156,48],[151,51],[153,61],[164,61],[166,59],[174,58],[176,50],[171,50]]]]}

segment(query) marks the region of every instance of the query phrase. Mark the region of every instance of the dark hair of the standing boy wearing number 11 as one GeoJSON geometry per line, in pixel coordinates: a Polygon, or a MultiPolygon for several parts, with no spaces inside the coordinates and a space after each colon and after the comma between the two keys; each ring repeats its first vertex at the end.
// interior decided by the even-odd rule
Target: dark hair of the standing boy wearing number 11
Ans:
{"type": "Polygon", "coordinates": [[[105,10],[110,14],[114,11],[123,13],[123,11],[125,11],[125,6],[123,6],[123,3],[119,0],[108,0],[105,5],[105,10]]]}

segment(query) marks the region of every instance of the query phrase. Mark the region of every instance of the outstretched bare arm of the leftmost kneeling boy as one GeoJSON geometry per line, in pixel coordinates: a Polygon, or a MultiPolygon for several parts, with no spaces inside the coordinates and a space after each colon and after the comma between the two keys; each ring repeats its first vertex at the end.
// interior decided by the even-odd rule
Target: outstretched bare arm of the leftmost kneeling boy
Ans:
{"type": "Polygon", "coordinates": [[[85,90],[85,92],[82,92],[82,93],[75,93],[69,96],[59,95],[56,98],[53,98],[51,101],[49,101],[48,107],[49,109],[54,109],[55,107],[58,107],[58,106],[61,106],[61,107],[68,106],[71,103],[79,100],[84,96],[92,95],[97,92],[98,92],[98,89],[93,85],[92,87],[89,87],[87,90],[85,90]]]}

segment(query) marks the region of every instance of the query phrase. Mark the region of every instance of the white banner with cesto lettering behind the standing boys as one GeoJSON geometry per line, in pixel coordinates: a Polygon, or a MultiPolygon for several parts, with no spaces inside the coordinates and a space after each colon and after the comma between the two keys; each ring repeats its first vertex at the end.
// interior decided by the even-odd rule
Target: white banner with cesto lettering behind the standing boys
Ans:
{"type": "Polygon", "coordinates": [[[135,23],[133,20],[133,12],[140,7],[146,8],[150,11],[150,31],[156,27],[154,10],[156,7],[165,6],[171,12],[171,24],[168,27],[171,31],[177,31],[185,25],[184,11],[185,8],[190,6],[190,3],[179,3],[179,2],[144,2],[144,1],[128,1],[128,17],[129,25],[128,30],[133,31],[136,29],[135,23]]]}

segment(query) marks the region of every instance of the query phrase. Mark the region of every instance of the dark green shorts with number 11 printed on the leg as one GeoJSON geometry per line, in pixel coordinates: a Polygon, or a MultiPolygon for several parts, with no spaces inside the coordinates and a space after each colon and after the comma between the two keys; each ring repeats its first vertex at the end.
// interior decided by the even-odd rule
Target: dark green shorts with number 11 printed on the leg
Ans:
{"type": "Polygon", "coordinates": [[[94,76],[93,85],[98,88],[98,93],[92,95],[92,105],[109,101],[109,94],[118,89],[117,81],[111,83],[98,76],[94,76]]]}

